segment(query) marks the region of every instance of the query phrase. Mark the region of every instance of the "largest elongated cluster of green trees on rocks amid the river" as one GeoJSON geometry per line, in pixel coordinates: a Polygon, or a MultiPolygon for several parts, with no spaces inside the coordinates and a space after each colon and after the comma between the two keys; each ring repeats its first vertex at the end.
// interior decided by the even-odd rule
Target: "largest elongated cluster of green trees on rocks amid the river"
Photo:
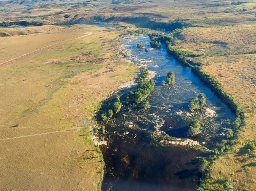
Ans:
{"type": "Polygon", "coordinates": [[[147,80],[148,69],[142,68],[141,77],[139,78],[138,86],[135,90],[130,91],[127,96],[127,101],[141,103],[146,99],[154,90],[154,81],[147,80]]]}

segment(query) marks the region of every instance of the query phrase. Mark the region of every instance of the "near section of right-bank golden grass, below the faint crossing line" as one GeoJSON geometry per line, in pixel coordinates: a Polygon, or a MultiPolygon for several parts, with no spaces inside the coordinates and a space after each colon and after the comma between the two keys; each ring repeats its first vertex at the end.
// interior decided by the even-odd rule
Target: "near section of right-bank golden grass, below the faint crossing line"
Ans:
{"type": "Polygon", "coordinates": [[[203,70],[216,77],[245,111],[245,126],[239,133],[238,144],[212,165],[211,178],[207,182],[226,179],[234,185],[235,191],[254,191],[256,159],[240,153],[249,140],[256,138],[256,55],[211,57],[207,61],[209,64],[203,66],[203,70]]]}

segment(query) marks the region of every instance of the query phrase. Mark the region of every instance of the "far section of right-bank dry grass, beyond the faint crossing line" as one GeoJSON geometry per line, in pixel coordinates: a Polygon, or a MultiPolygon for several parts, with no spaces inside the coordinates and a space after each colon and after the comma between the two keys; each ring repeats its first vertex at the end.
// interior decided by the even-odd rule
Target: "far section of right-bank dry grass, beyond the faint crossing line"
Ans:
{"type": "Polygon", "coordinates": [[[176,47],[189,49],[204,49],[204,56],[256,53],[256,25],[236,25],[206,28],[187,28],[174,36],[182,39],[176,47]]]}

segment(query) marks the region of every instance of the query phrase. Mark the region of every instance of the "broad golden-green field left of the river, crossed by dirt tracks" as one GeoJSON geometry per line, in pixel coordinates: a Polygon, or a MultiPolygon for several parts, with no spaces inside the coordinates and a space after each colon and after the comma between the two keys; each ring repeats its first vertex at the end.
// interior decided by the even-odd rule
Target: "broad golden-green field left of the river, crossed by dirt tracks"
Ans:
{"type": "Polygon", "coordinates": [[[100,188],[102,157],[87,126],[136,73],[118,56],[118,35],[73,26],[1,37],[0,62],[63,42],[0,66],[0,190],[100,188]]]}

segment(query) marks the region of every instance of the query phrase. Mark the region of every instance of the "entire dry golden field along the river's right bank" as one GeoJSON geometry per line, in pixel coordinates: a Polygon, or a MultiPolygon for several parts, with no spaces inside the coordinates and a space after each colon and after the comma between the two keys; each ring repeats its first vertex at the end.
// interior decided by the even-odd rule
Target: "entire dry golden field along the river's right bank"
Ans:
{"type": "Polygon", "coordinates": [[[221,181],[228,180],[235,191],[256,190],[256,160],[246,154],[245,145],[256,137],[256,54],[255,25],[232,27],[187,28],[174,33],[175,48],[201,56],[189,58],[202,63],[203,70],[214,76],[223,89],[245,111],[245,126],[237,144],[216,160],[210,169],[207,188],[221,190],[221,181]]]}

